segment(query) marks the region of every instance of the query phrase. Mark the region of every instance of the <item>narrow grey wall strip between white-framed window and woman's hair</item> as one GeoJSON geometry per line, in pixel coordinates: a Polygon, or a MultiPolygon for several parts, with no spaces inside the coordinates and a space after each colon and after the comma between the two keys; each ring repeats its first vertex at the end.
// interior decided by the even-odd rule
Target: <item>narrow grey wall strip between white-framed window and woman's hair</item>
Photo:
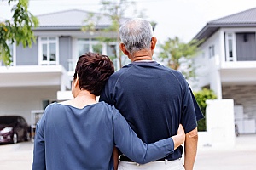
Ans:
{"type": "Polygon", "coordinates": [[[68,71],[68,59],[72,59],[72,48],[71,37],[59,37],[60,65],[62,65],[66,71],[68,71]]]}

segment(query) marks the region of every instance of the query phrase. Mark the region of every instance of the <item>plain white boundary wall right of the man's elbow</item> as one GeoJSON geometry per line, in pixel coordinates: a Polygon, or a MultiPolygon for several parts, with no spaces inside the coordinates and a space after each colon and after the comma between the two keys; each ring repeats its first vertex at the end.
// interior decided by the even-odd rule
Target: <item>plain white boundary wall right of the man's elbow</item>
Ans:
{"type": "Polygon", "coordinates": [[[235,146],[234,100],[207,100],[207,132],[199,133],[199,147],[232,148],[235,146]]]}

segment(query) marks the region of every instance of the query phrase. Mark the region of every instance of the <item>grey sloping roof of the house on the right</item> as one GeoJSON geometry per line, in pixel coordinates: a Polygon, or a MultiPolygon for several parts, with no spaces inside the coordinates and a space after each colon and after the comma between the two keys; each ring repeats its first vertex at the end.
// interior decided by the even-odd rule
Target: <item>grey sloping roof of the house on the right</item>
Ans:
{"type": "Polygon", "coordinates": [[[193,39],[207,39],[211,37],[215,31],[218,31],[221,27],[250,27],[256,26],[256,8],[251,8],[240,13],[231,14],[220,18],[218,20],[212,20],[204,26],[201,31],[193,39]]]}

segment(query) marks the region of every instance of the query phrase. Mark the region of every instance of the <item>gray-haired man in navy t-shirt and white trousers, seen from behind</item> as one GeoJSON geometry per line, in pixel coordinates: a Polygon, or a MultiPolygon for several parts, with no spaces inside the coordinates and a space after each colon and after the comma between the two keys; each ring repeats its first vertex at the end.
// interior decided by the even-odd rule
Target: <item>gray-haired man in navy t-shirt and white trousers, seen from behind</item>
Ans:
{"type": "Polygon", "coordinates": [[[197,150],[197,121],[203,118],[183,75],[152,59],[156,37],[150,23],[127,20],[119,28],[119,48],[131,64],[116,71],[102,90],[100,100],[114,105],[143,142],[152,143],[177,133],[179,123],[186,133],[183,146],[164,159],[137,166],[119,156],[119,169],[186,169],[194,167],[197,150]]]}

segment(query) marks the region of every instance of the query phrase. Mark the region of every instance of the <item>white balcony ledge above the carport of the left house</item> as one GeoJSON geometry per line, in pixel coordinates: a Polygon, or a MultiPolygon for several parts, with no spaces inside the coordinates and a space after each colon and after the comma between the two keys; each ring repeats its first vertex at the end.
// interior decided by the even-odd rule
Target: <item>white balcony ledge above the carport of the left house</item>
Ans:
{"type": "Polygon", "coordinates": [[[0,88],[60,86],[70,89],[67,71],[61,65],[20,65],[0,67],[0,88]]]}

